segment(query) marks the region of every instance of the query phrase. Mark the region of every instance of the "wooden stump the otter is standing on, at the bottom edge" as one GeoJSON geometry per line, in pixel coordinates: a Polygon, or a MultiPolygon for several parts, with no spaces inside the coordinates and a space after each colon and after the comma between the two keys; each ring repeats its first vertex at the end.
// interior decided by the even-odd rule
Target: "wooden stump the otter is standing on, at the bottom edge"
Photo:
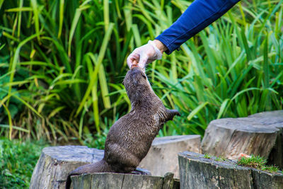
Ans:
{"type": "Polygon", "coordinates": [[[178,189],[179,181],[173,179],[173,173],[166,176],[146,176],[122,173],[92,173],[80,176],[71,176],[74,189],[178,189]]]}

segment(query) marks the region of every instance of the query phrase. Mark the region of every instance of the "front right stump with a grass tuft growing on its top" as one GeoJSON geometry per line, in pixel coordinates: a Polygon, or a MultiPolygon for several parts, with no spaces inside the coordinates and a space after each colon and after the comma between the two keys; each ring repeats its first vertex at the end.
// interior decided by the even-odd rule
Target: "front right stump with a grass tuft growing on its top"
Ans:
{"type": "Polygon", "coordinates": [[[180,188],[283,188],[282,173],[267,173],[238,166],[236,161],[218,161],[203,154],[185,151],[178,154],[180,188]]]}

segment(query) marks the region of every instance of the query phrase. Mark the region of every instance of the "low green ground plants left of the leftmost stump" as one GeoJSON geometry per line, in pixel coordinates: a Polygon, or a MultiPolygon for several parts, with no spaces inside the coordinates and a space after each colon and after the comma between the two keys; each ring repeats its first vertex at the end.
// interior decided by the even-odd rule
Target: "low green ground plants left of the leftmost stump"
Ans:
{"type": "Polygon", "coordinates": [[[28,188],[43,142],[0,139],[0,188],[28,188]]]}

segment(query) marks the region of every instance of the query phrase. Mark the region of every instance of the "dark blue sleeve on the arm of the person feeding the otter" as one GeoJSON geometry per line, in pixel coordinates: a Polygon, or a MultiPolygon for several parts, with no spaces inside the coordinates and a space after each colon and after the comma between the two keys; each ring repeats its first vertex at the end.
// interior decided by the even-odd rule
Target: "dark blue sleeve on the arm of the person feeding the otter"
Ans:
{"type": "Polygon", "coordinates": [[[207,25],[224,15],[240,0],[195,0],[187,10],[166,29],[156,40],[168,48],[169,55],[207,25]]]}

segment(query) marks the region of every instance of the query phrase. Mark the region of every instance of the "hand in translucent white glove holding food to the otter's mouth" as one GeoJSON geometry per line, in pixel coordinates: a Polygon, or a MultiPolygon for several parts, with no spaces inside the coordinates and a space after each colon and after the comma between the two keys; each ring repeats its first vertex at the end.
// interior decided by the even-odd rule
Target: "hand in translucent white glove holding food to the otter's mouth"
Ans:
{"type": "Polygon", "coordinates": [[[156,59],[161,59],[162,53],[166,49],[167,47],[159,40],[149,40],[146,45],[136,48],[129,57],[127,57],[128,67],[131,68],[134,62],[139,62],[138,66],[144,69],[146,64],[154,62],[156,59]]]}

